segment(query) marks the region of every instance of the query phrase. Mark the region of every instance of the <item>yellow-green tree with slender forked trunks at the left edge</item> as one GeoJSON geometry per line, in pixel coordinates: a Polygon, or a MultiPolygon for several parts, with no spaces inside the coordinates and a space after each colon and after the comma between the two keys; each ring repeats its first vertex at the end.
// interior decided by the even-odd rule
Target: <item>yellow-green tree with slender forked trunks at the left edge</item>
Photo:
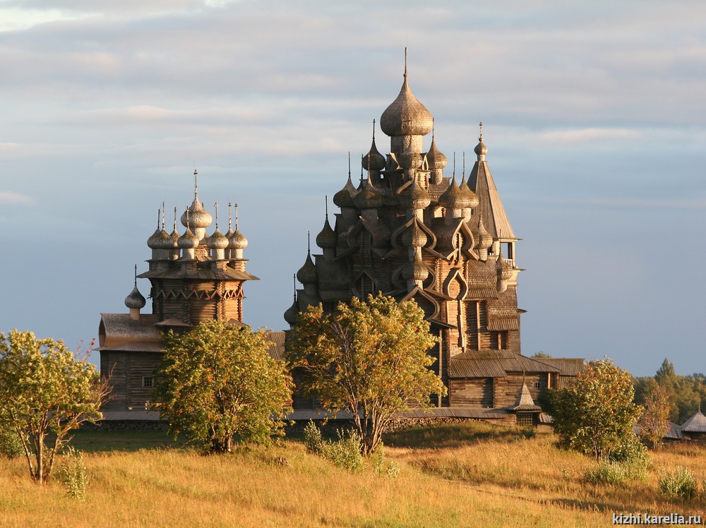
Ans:
{"type": "Polygon", "coordinates": [[[37,339],[32,332],[0,332],[0,421],[22,443],[30,476],[49,481],[56,452],[85,421],[102,418],[109,392],[95,366],[64,342],[37,339]]]}

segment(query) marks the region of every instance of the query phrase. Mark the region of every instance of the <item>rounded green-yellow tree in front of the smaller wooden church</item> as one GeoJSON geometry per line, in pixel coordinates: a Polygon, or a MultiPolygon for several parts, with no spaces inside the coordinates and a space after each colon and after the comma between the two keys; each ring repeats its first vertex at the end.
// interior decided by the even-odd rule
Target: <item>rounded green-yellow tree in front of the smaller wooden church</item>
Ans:
{"type": "Polygon", "coordinates": [[[205,320],[164,336],[155,402],[170,433],[209,452],[230,452],[234,436],[268,443],[292,412],[292,378],[268,354],[263,332],[205,320]]]}

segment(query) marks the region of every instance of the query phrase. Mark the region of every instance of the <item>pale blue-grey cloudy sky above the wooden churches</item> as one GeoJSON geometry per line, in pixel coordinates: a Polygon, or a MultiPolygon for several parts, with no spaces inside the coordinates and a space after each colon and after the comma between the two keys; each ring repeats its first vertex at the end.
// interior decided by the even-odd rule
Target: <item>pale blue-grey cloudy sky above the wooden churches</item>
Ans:
{"type": "Polygon", "coordinates": [[[449,159],[472,167],[484,123],[522,239],[523,354],[706,372],[696,0],[0,0],[0,331],[97,337],[195,168],[212,214],[239,204],[261,278],[245,322],[285,329],[306,233],[326,195],[335,212],[348,152],[359,174],[405,47],[449,159]]]}

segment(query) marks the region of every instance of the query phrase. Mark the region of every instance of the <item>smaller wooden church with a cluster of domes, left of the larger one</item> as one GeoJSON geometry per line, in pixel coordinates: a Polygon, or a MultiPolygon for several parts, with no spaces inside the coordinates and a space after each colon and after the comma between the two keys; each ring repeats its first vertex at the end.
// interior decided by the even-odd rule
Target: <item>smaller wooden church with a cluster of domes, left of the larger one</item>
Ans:
{"type": "Polygon", "coordinates": [[[136,275],[135,287],[125,299],[130,313],[101,314],[100,370],[110,377],[113,387],[103,408],[108,419],[111,412],[126,411],[131,417],[145,412],[162,356],[162,331],[189,330],[207,319],[242,324],[244,283],[258,280],[246,271],[243,251],[248,240],[239,231],[237,205],[235,230],[229,205],[229,229],[223,234],[218,204],[214,204],[215,229],[209,236],[206,230],[213,224],[213,217],[198,199],[196,176],[194,171],[193,202],[181,215],[183,233],[177,231],[176,208],[174,229],[171,234],[167,232],[162,204],[157,229],[147,241],[152,250],[149,270],[136,275]],[[152,285],[151,314],[140,313],[146,301],[137,288],[138,277],[149,279],[152,285]]]}

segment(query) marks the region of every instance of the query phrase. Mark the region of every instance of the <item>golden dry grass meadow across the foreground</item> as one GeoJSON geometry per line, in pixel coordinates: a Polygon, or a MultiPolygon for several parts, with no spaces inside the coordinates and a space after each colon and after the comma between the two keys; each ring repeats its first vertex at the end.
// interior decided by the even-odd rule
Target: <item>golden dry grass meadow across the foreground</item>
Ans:
{"type": "Polygon", "coordinates": [[[553,433],[474,422],[385,437],[396,478],[350,474],[297,436],[273,448],[203,456],[160,432],[78,431],[85,500],[58,479],[33,484],[21,458],[0,458],[1,527],[597,527],[613,512],[702,515],[704,499],[658,492],[662,468],[706,478],[706,448],[651,452],[644,480],[587,484],[594,462],[559,450],[553,433]]]}

